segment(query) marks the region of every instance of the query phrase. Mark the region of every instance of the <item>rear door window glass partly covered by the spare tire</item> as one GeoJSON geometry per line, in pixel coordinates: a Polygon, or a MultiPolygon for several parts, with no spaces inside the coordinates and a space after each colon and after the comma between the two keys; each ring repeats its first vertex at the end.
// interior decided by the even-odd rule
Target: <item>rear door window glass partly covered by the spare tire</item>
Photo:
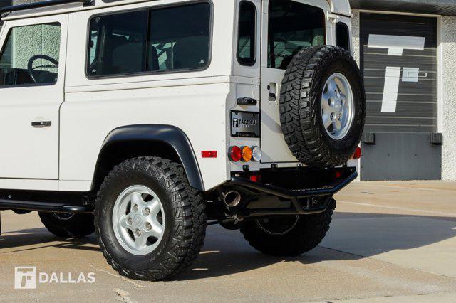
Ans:
{"type": "Polygon", "coordinates": [[[269,1],[268,67],[286,69],[301,48],[325,43],[322,9],[296,1],[269,1]]]}

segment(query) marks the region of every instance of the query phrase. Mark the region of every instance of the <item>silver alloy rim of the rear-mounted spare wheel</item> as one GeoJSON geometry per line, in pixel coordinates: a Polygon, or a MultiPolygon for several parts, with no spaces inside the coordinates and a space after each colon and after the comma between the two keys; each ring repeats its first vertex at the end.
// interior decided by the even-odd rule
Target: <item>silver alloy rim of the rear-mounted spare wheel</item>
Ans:
{"type": "Polygon", "coordinates": [[[321,95],[321,118],[326,133],[335,140],[348,134],[353,124],[353,92],[345,75],[334,73],[326,80],[321,95]]]}

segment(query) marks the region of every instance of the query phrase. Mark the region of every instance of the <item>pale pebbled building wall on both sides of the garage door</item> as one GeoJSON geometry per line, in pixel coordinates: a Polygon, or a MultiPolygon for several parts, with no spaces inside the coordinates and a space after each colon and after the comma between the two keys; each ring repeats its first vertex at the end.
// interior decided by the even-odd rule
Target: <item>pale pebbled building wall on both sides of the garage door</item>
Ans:
{"type": "MultiPolygon", "coordinates": [[[[353,10],[353,56],[360,63],[360,12],[353,10]]],[[[440,20],[439,129],[443,136],[442,180],[456,181],[456,17],[440,20]]]]}

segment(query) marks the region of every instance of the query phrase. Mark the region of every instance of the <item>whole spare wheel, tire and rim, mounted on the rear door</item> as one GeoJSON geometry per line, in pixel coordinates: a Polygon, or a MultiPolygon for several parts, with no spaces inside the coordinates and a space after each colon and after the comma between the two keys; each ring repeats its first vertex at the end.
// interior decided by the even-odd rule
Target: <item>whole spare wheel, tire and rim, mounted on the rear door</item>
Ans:
{"type": "Polygon", "coordinates": [[[363,77],[348,51],[316,46],[294,55],[281,85],[280,119],[296,159],[317,167],[346,163],[365,117],[363,77]]]}

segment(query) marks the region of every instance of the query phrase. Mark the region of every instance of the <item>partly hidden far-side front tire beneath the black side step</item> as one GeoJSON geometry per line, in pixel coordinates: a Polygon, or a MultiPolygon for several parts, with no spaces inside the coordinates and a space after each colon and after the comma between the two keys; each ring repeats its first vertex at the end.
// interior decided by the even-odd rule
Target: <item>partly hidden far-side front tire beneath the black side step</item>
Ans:
{"type": "Polygon", "coordinates": [[[41,222],[50,233],[60,238],[83,238],[95,232],[90,213],[39,213],[41,222]]]}

